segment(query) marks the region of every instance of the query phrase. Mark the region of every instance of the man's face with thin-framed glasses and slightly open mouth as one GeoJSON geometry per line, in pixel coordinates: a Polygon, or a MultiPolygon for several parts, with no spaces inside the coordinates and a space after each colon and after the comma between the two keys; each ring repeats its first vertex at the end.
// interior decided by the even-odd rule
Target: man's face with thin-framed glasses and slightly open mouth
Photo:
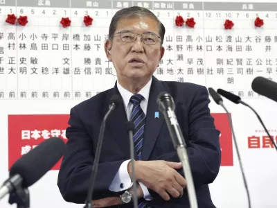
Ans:
{"type": "MultiPolygon", "coordinates": [[[[154,33],[159,36],[157,21],[149,17],[121,19],[114,34],[122,31],[137,34],[154,33]]],[[[125,37],[126,40],[129,38],[125,37]]],[[[119,33],[114,35],[112,42],[106,42],[105,47],[110,51],[110,54],[106,51],[106,55],[114,64],[118,79],[150,78],[159,67],[159,61],[164,53],[160,39],[157,44],[148,45],[143,42],[141,35],[137,35],[134,42],[124,42],[120,39],[119,33]]]]}

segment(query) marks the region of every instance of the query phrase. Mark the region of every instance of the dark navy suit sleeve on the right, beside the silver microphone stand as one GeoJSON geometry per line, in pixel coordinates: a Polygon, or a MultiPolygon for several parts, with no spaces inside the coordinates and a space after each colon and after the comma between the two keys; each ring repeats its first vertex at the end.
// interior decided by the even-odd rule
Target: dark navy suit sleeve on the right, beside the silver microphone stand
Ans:
{"type": "MultiPolygon", "coordinates": [[[[203,184],[213,182],[220,170],[220,132],[215,129],[214,119],[211,116],[208,103],[210,103],[208,91],[206,87],[201,87],[195,94],[189,111],[190,134],[186,150],[195,189],[203,184]]],[[[154,160],[180,162],[176,151],[160,155],[154,160]]],[[[177,171],[184,176],[183,168],[177,171]]],[[[157,193],[154,193],[151,189],[150,193],[157,196],[157,193]]]]}

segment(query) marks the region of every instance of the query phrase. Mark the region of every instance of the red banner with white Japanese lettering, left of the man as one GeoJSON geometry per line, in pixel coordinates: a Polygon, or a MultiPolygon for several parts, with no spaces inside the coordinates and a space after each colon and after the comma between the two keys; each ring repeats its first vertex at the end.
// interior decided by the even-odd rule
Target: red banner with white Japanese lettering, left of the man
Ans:
{"type": "MultiPolygon", "coordinates": [[[[9,115],[8,116],[8,169],[19,157],[28,153],[45,139],[60,137],[66,143],[68,114],[9,115]]],[[[51,154],[51,153],[49,153],[51,154]]],[[[59,170],[62,159],[53,166],[59,170]]]]}

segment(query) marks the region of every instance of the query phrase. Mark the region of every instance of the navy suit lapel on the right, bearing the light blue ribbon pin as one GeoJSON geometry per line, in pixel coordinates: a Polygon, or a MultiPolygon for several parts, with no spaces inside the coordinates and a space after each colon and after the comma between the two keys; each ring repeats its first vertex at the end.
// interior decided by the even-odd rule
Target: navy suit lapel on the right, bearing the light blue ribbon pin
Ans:
{"type": "Polygon", "coordinates": [[[160,92],[163,91],[165,91],[163,85],[161,85],[159,80],[157,80],[157,78],[154,78],[153,76],[149,94],[148,110],[146,114],[141,160],[149,159],[154,144],[161,130],[161,125],[163,125],[164,117],[163,114],[159,112],[157,105],[157,96],[160,92]],[[155,118],[156,112],[159,114],[159,118],[155,118]]]}

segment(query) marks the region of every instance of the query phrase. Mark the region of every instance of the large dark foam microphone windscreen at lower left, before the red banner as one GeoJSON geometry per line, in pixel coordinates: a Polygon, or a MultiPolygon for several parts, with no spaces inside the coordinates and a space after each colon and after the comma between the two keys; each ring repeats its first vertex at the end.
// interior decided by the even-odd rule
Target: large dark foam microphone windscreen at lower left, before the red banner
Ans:
{"type": "Polygon", "coordinates": [[[10,177],[19,174],[23,177],[23,188],[30,187],[59,161],[64,148],[64,141],[60,138],[43,141],[12,165],[10,177]]]}

